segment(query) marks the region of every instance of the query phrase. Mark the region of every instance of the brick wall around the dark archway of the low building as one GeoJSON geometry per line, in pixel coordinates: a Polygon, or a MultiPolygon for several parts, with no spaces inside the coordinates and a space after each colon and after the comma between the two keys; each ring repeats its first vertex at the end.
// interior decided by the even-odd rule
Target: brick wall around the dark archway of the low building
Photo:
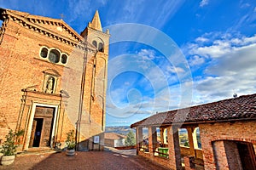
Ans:
{"type": "MultiPolygon", "coordinates": [[[[253,144],[256,151],[256,122],[216,122],[200,124],[201,146],[205,169],[228,169],[224,140],[253,144]],[[217,157],[214,158],[214,151],[217,157]],[[218,157],[221,156],[221,157],[218,157]]],[[[230,147],[226,147],[230,150],[230,147]]],[[[230,152],[235,150],[230,150],[230,152]]],[[[229,151],[228,151],[229,152],[229,151]]]]}

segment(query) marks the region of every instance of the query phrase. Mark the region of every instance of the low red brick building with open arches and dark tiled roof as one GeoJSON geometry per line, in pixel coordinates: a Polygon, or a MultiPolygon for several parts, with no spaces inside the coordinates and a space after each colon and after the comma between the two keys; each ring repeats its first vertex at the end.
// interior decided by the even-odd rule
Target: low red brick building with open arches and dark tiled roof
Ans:
{"type": "Polygon", "coordinates": [[[168,168],[256,169],[256,94],[159,113],[131,127],[137,131],[137,154],[168,168]],[[187,129],[189,147],[179,144],[180,128],[187,129]]]}

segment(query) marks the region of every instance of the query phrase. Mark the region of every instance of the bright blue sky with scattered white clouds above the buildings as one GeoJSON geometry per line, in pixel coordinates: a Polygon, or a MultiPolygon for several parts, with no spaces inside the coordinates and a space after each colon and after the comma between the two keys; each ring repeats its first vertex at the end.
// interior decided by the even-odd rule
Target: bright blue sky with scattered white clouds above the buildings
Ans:
{"type": "Polygon", "coordinates": [[[255,94],[256,0],[0,0],[81,32],[109,29],[107,126],[255,94]]]}

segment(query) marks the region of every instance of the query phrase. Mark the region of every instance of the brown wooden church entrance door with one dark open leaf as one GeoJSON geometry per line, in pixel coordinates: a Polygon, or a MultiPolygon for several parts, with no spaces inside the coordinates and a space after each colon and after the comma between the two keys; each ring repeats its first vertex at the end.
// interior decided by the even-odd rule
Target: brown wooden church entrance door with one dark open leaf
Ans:
{"type": "Polygon", "coordinates": [[[32,123],[29,147],[49,147],[52,140],[55,108],[37,106],[32,123]]]}

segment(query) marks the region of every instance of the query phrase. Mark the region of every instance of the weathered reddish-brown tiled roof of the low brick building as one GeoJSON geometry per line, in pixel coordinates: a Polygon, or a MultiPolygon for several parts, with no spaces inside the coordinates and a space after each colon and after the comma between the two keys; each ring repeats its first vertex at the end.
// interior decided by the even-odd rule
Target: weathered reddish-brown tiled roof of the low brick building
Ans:
{"type": "Polygon", "coordinates": [[[158,113],[131,124],[131,127],[241,120],[256,120],[256,94],[158,113]]]}

